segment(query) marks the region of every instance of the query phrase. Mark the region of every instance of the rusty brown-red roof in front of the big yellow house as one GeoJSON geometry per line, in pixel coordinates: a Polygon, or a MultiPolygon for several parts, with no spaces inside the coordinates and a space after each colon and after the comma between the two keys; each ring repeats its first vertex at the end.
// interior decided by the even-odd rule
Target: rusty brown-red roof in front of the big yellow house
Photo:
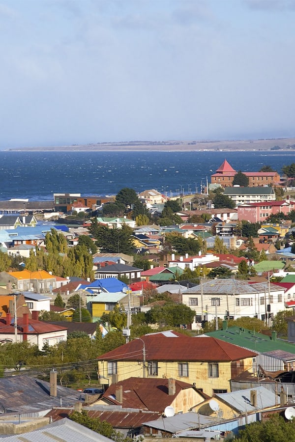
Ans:
{"type": "MultiPolygon", "coordinates": [[[[175,394],[169,394],[168,379],[162,378],[128,378],[117,384],[112,384],[102,395],[114,405],[123,408],[138,408],[163,413],[165,408],[172,404],[181,390],[194,388],[187,382],[175,380],[175,394]],[[116,389],[122,386],[122,403],[116,399],[116,389]]],[[[199,393],[200,394],[200,393],[199,393]]]]}

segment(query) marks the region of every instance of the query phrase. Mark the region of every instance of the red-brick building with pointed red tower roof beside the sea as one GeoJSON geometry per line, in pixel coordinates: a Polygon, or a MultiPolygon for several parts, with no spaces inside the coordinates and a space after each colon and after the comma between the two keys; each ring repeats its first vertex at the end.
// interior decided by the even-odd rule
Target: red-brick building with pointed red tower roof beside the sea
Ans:
{"type": "MultiPolygon", "coordinates": [[[[223,187],[233,185],[237,171],[226,161],[222,163],[213,175],[212,184],[220,184],[223,187]]],[[[249,187],[276,185],[280,183],[280,175],[277,172],[243,172],[249,178],[249,187]]]]}

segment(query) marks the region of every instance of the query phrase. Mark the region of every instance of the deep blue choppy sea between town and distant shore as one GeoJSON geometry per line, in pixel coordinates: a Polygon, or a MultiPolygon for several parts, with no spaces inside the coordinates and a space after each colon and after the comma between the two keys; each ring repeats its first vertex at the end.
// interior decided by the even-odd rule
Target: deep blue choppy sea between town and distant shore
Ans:
{"type": "Polygon", "coordinates": [[[0,199],[53,200],[54,193],[114,195],[124,187],[168,196],[200,192],[227,160],[234,169],[279,173],[293,151],[0,151],[0,199]]]}

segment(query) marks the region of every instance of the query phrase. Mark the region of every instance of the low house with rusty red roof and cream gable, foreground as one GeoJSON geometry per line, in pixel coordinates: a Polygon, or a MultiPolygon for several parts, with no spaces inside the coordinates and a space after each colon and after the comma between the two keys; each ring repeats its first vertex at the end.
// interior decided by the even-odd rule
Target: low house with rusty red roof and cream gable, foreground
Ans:
{"type": "Polygon", "coordinates": [[[166,407],[187,413],[208,396],[187,382],[175,379],[128,378],[112,384],[95,405],[117,405],[163,414],[166,407]]]}

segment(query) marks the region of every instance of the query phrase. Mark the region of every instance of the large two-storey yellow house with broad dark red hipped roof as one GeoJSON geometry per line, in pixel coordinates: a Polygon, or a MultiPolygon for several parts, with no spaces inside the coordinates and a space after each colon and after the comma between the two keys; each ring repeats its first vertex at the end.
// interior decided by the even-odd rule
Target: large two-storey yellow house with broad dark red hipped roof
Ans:
{"type": "Polygon", "coordinates": [[[256,353],[211,337],[149,333],[98,359],[99,376],[117,383],[133,376],[173,378],[204,393],[230,391],[232,378],[252,370],[256,353]],[[253,359],[254,358],[254,359],[253,359]]]}

